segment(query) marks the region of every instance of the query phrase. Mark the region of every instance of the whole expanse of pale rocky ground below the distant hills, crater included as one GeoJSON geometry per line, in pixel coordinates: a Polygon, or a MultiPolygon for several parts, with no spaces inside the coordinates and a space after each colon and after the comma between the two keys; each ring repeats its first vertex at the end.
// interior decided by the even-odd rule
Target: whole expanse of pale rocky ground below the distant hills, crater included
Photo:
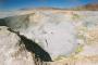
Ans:
{"type": "Polygon", "coordinates": [[[1,65],[98,65],[97,11],[1,12],[0,26],[1,65]]]}

